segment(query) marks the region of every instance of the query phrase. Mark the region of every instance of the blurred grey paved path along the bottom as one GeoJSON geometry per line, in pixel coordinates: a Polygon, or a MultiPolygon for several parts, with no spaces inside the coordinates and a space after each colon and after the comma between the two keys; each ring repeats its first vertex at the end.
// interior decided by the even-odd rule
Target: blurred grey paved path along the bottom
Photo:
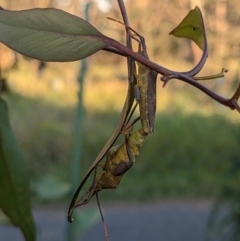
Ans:
{"type": "MultiPolygon", "coordinates": [[[[210,203],[120,204],[103,206],[110,241],[204,241],[210,203]]],[[[38,241],[67,241],[66,210],[35,210],[38,241]]],[[[81,241],[104,241],[98,221],[81,241]]],[[[17,228],[0,225],[0,241],[23,241],[17,228]]]]}

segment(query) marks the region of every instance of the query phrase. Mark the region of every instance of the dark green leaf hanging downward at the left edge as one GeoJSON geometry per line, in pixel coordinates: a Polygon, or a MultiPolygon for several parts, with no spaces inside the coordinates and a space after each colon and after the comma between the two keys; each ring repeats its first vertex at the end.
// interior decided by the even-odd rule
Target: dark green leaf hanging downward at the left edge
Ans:
{"type": "Polygon", "coordinates": [[[7,104],[0,98],[0,208],[19,226],[26,241],[36,240],[31,213],[29,171],[14,138],[7,104]]]}

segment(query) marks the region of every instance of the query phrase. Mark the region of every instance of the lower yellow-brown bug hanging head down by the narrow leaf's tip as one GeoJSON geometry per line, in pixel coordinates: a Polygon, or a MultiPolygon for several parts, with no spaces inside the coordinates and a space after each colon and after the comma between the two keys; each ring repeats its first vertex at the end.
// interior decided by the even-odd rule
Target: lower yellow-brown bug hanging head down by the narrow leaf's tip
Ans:
{"type": "Polygon", "coordinates": [[[125,142],[112,147],[107,155],[102,171],[96,176],[97,168],[101,166],[98,164],[95,167],[94,178],[91,187],[87,192],[87,198],[84,195],[79,200],[74,200],[74,204],[70,206],[68,212],[68,220],[72,222],[73,209],[87,204],[90,199],[102,189],[115,189],[123,177],[123,174],[128,171],[139,155],[141,146],[143,145],[147,133],[141,128],[133,133],[126,134],[125,142]],[[127,135],[129,135],[127,137],[127,135]]]}

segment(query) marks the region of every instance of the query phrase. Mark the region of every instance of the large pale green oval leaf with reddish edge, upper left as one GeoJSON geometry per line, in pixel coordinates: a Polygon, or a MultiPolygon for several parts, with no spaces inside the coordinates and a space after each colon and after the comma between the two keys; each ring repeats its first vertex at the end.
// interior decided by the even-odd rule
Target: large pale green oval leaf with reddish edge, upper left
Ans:
{"type": "Polygon", "coordinates": [[[0,42],[43,61],[75,61],[107,46],[85,20],[57,9],[0,10],[0,42]]]}

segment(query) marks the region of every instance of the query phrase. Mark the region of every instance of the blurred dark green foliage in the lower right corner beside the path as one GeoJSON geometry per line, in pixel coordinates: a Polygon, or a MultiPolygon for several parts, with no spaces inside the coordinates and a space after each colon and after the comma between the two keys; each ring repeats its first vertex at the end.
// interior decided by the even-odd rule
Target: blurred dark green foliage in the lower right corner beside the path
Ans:
{"type": "Polygon", "coordinates": [[[222,186],[208,219],[207,240],[237,241],[240,238],[240,163],[237,152],[222,178],[222,186]],[[224,207],[224,208],[223,208],[224,207]]]}

